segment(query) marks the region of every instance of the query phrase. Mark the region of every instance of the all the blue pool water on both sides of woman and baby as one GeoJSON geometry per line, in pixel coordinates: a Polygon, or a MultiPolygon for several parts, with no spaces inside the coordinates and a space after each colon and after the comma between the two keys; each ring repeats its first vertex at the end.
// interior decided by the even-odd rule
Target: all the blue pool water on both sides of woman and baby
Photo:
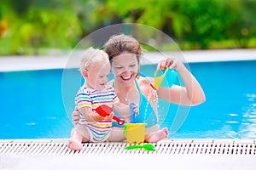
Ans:
{"type": "MultiPolygon", "coordinates": [[[[143,66],[142,75],[153,75],[154,67],[143,66]]],[[[256,60],[192,63],[189,68],[207,101],[187,107],[160,100],[160,123],[168,127],[169,137],[255,139],[256,60]]],[[[61,69],[0,72],[0,139],[69,138],[78,89],[62,89],[62,73],[61,69]],[[66,90],[64,97],[61,90],[66,90]]],[[[76,77],[68,81],[72,84],[76,77]]]]}

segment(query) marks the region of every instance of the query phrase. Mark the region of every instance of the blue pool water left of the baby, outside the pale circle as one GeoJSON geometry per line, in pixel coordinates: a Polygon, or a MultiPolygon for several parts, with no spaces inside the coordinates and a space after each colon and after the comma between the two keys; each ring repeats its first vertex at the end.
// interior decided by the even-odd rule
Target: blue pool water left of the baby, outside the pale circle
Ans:
{"type": "Polygon", "coordinates": [[[61,98],[62,70],[0,73],[0,139],[63,138],[72,127],[61,98]]]}

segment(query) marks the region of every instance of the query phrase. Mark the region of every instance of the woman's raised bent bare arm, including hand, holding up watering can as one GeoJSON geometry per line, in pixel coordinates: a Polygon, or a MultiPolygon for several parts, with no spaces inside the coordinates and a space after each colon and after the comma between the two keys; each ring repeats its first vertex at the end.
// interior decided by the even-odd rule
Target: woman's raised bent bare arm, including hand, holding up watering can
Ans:
{"type": "Polygon", "coordinates": [[[201,85],[187,70],[181,61],[177,59],[165,59],[157,65],[157,69],[170,67],[176,69],[182,77],[185,87],[173,85],[172,88],[158,88],[157,94],[160,99],[177,105],[199,105],[206,98],[201,85]]]}

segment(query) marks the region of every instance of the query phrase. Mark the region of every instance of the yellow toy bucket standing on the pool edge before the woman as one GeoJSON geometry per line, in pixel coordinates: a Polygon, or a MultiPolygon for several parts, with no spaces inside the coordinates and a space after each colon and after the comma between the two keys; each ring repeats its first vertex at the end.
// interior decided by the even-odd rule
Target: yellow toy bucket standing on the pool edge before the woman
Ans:
{"type": "Polygon", "coordinates": [[[124,135],[129,144],[140,144],[145,140],[145,127],[147,123],[125,123],[124,135]]]}

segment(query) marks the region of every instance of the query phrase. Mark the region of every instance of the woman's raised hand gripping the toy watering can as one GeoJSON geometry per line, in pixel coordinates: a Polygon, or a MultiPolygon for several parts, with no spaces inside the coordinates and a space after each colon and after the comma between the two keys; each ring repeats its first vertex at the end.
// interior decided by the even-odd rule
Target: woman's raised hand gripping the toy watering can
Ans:
{"type": "Polygon", "coordinates": [[[180,60],[176,58],[163,59],[157,65],[158,70],[163,70],[163,69],[166,69],[167,67],[180,71],[184,67],[184,65],[180,60]]]}

